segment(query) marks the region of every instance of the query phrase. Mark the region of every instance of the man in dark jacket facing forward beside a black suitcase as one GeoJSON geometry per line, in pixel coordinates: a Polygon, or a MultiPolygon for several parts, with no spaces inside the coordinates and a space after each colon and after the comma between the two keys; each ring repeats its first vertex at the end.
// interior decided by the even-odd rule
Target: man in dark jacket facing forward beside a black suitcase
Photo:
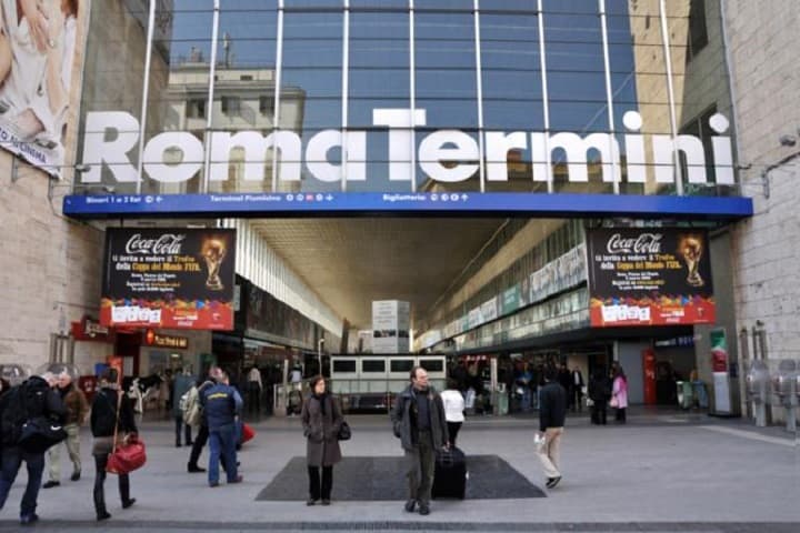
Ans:
{"type": "Polygon", "coordinates": [[[426,515],[430,514],[436,451],[447,450],[450,438],[442,399],[428,384],[428,372],[414,366],[409,378],[411,384],[397,396],[391,421],[406,457],[406,511],[412,513],[419,504],[419,513],[426,515]]]}

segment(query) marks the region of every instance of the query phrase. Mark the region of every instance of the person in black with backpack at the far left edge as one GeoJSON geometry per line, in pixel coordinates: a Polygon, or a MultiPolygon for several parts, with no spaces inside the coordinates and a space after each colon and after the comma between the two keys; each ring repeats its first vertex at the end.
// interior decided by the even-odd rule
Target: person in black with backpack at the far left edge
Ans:
{"type": "Polygon", "coordinates": [[[2,471],[0,472],[0,509],[6,505],[11,485],[24,461],[28,485],[20,504],[20,523],[32,524],[37,497],[44,472],[44,450],[30,450],[20,442],[23,426],[33,419],[46,418],[62,423],[67,416],[61,396],[53,390],[57,378],[51,372],[33,375],[0,398],[0,432],[2,442],[2,471]]]}

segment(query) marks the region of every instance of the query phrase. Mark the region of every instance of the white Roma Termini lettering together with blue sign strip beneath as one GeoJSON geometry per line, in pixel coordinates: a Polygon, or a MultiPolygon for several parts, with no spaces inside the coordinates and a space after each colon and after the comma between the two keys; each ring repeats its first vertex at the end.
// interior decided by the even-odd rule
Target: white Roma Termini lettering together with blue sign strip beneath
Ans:
{"type": "MultiPolygon", "coordinates": [[[[664,202],[663,197],[653,197],[650,200],[640,200],[648,197],[637,197],[637,200],[632,200],[626,195],[586,194],[592,199],[616,198],[597,204],[604,205],[600,211],[594,209],[593,201],[573,202],[573,199],[564,200],[571,205],[566,210],[563,205],[552,207],[551,202],[559,203],[556,199],[563,194],[409,192],[368,193],[372,195],[359,197],[358,193],[313,191],[313,180],[321,184],[343,182],[346,185],[367,182],[370,160],[388,161],[388,179],[396,183],[394,189],[400,182],[408,182],[411,189],[410,182],[418,174],[416,165],[433,182],[459,183],[473,179],[481,172],[481,160],[484,161],[482,170],[487,183],[507,182],[509,153],[520,151],[530,153],[532,182],[553,181],[551,154],[553,151],[562,151],[566,155],[568,179],[574,183],[589,181],[589,154],[594,152],[600,154],[604,183],[621,183],[623,175],[628,183],[646,183],[649,181],[649,167],[652,167],[656,183],[674,183],[674,164],[679,153],[687,162],[687,182],[697,185],[709,183],[707,150],[699,138],[643,134],[640,131],[641,115],[634,111],[626,113],[623,119],[626,132],[620,134],[620,138],[624,142],[624,155],[621,153],[618,135],[611,133],[581,137],[572,132],[487,131],[476,138],[461,130],[443,129],[421,135],[422,131],[417,128],[422,128],[426,123],[424,109],[373,109],[374,129],[388,131],[388,153],[378,153],[376,145],[368,147],[369,132],[366,130],[323,130],[308,138],[304,145],[301,135],[289,130],[276,130],[266,134],[260,131],[213,131],[207,135],[206,142],[191,132],[166,131],[154,135],[142,147],[142,180],[174,187],[199,179],[204,162],[208,161],[208,181],[212,189],[219,189],[216,183],[229,180],[231,153],[236,151],[243,154],[237,159],[243,162],[244,182],[262,183],[264,180],[272,180],[271,174],[266,178],[264,169],[274,167],[278,189],[293,187],[302,191],[111,198],[71,195],[64,201],[64,212],[79,218],[113,214],[269,215],[291,212],[341,215],[383,211],[410,212],[416,215],[453,211],[466,214],[508,211],[511,214],[519,212],[549,215],[627,215],[633,212],[642,217],[667,214],[731,218],[752,214],[750,200],[741,198],[706,197],[701,202],[692,203],[682,197],[664,202]],[[329,160],[328,154],[337,151],[343,154],[343,163],[329,160]],[[178,153],[180,158],[177,162],[178,153]],[[291,185],[292,183],[294,185],[291,185]],[[534,197],[544,198],[533,200],[534,197]],[[669,205],[670,202],[674,205],[669,205]],[[662,209],[667,212],[663,213],[662,209]]],[[[110,173],[117,183],[138,183],[139,169],[131,155],[141,141],[139,127],[139,121],[127,112],[87,113],[82,163],[89,167],[89,171],[81,175],[81,183],[102,183],[104,172],[110,173]]],[[[729,128],[728,120],[716,114],[709,120],[709,128],[718,133],[709,140],[716,175],[712,184],[734,185],[731,140],[724,135],[729,128]]],[[[273,185],[266,183],[262,188],[274,189],[273,185]]],[[[148,189],[152,190],[152,187],[148,189]]],[[[574,195],[578,197],[580,194],[574,195]]]]}

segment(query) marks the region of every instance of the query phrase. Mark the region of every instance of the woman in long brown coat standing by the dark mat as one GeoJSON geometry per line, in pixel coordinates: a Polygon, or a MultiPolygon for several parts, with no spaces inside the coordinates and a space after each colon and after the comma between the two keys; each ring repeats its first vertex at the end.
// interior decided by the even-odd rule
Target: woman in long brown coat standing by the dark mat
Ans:
{"type": "Polygon", "coordinates": [[[311,394],[303,402],[300,421],[307,439],[306,462],[309,472],[309,497],[306,505],[314,505],[320,499],[322,505],[330,505],[333,465],[341,461],[338,434],[344,418],[339,403],[326,390],[326,381],[321,375],[311,380],[311,394]]]}

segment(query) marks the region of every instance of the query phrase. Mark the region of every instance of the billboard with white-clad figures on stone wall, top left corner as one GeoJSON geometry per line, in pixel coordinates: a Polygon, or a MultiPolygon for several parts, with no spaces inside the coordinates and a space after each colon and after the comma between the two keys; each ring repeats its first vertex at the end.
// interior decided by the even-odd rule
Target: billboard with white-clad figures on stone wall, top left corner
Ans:
{"type": "Polygon", "coordinates": [[[60,175],[78,2],[0,6],[0,147],[60,175]]]}

